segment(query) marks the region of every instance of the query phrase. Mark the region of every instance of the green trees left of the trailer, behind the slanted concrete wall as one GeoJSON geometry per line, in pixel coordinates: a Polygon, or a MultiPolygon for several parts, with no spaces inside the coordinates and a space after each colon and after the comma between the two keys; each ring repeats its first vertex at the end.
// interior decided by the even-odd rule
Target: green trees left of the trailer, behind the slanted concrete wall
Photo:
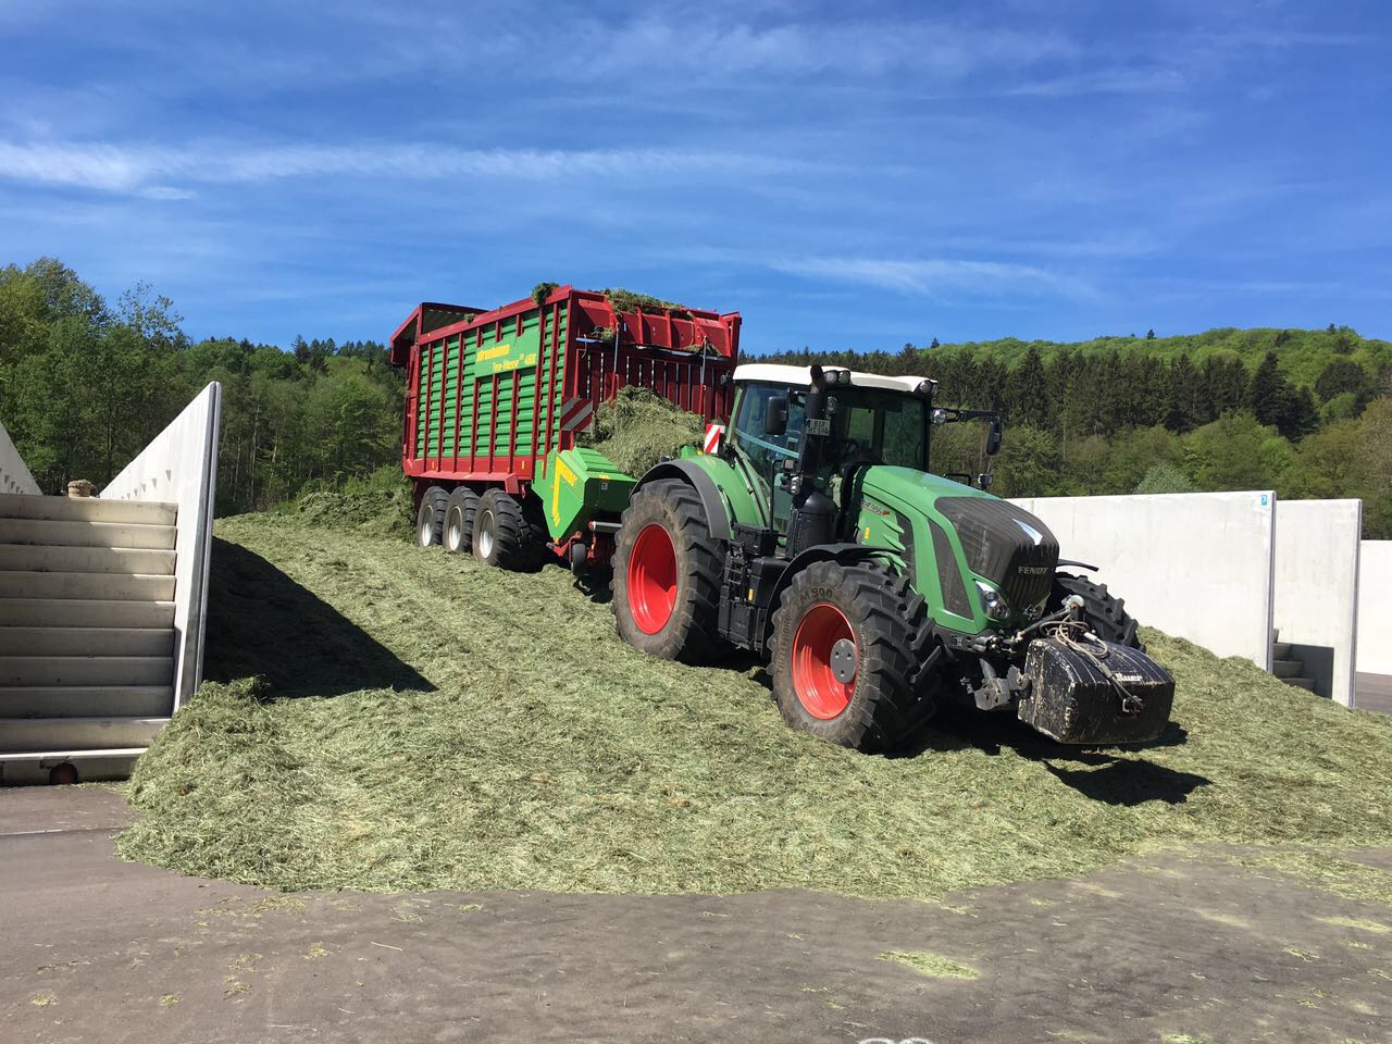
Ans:
{"type": "Polygon", "coordinates": [[[404,379],[384,345],[193,342],[180,323],[145,285],[111,303],[53,259],[0,269],[0,422],[46,493],[106,484],[213,380],[219,514],[398,459],[404,379]]]}

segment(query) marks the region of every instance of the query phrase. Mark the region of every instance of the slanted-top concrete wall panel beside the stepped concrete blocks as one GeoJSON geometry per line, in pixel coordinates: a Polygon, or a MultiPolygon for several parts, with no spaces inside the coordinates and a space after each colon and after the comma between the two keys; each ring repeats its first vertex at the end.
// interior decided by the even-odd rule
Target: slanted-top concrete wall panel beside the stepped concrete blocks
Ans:
{"type": "Polygon", "coordinates": [[[213,550],[213,493],[223,386],[213,381],[102,490],[103,500],[178,505],[174,540],[174,707],[203,678],[207,564],[213,550]]]}

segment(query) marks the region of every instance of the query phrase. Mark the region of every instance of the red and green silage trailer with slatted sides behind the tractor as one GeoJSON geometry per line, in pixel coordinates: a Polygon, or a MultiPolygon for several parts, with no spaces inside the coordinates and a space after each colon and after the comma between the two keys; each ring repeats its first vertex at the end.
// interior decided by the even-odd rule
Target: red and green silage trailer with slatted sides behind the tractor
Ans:
{"type": "MultiPolygon", "coordinates": [[[[459,503],[459,523],[472,528],[490,490],[512,500],[504,514],[515,507],[518,525],[536,529],[529,501],[547,457],[572,450],[621,387],[650,388],[725,423],[739,322],[738,312],[619,310],[604,294],[569,285],[496,309],[419,305],[393,334],[390,358],[406,367],[401,462],[416,486],[420,525],[430,514],[422,504],[438,508],[422,543],[450,546],[450,504],[459,503]]],[[[468,550],[470,535],[461,536],[462,547],[451,550],[468,550]]]]}

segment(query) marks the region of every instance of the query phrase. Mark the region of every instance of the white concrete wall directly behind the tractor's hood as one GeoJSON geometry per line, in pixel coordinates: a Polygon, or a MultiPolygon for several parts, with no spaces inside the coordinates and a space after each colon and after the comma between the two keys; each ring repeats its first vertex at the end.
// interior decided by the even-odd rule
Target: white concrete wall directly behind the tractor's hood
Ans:
{"type": "Polygon", "coordinates": [[[1141,624],[1271,668],[1274,493],[1016,500],[1141,624]]]}

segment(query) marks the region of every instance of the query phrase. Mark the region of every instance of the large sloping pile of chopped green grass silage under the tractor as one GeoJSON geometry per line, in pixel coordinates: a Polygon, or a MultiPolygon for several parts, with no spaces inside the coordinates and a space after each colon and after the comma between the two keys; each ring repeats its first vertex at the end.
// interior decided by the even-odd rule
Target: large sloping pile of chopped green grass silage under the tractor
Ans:
{"type": "Polygon", "coordinates": [[[748,661],[629,649],[561,568],[294,516],[217,532],[214,621],[244,619],[210,626],[224,683],[136,764],[131,859],[285,889],[933,898],[1151,846],[1292,845],[1339,874],[1310,853],[1392,844],[1392,718],[1158,633],[1164,745],[1077,752],[947,714],[917,756],[867,757],[788,729],[748,661]]]}

